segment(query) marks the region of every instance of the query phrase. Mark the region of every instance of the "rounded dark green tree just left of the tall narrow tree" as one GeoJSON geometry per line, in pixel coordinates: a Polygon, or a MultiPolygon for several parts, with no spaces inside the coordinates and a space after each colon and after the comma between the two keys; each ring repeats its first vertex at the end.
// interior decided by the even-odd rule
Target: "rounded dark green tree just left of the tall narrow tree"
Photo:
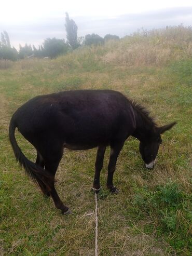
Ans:
{"type": "Polygon", "coordinates": [[[47,38],[44,43],[44,56],[56,58],[57,56],[64,54],[68,51],[68,45],[65,43],[64,39],[57,38],[47,38]]]}

